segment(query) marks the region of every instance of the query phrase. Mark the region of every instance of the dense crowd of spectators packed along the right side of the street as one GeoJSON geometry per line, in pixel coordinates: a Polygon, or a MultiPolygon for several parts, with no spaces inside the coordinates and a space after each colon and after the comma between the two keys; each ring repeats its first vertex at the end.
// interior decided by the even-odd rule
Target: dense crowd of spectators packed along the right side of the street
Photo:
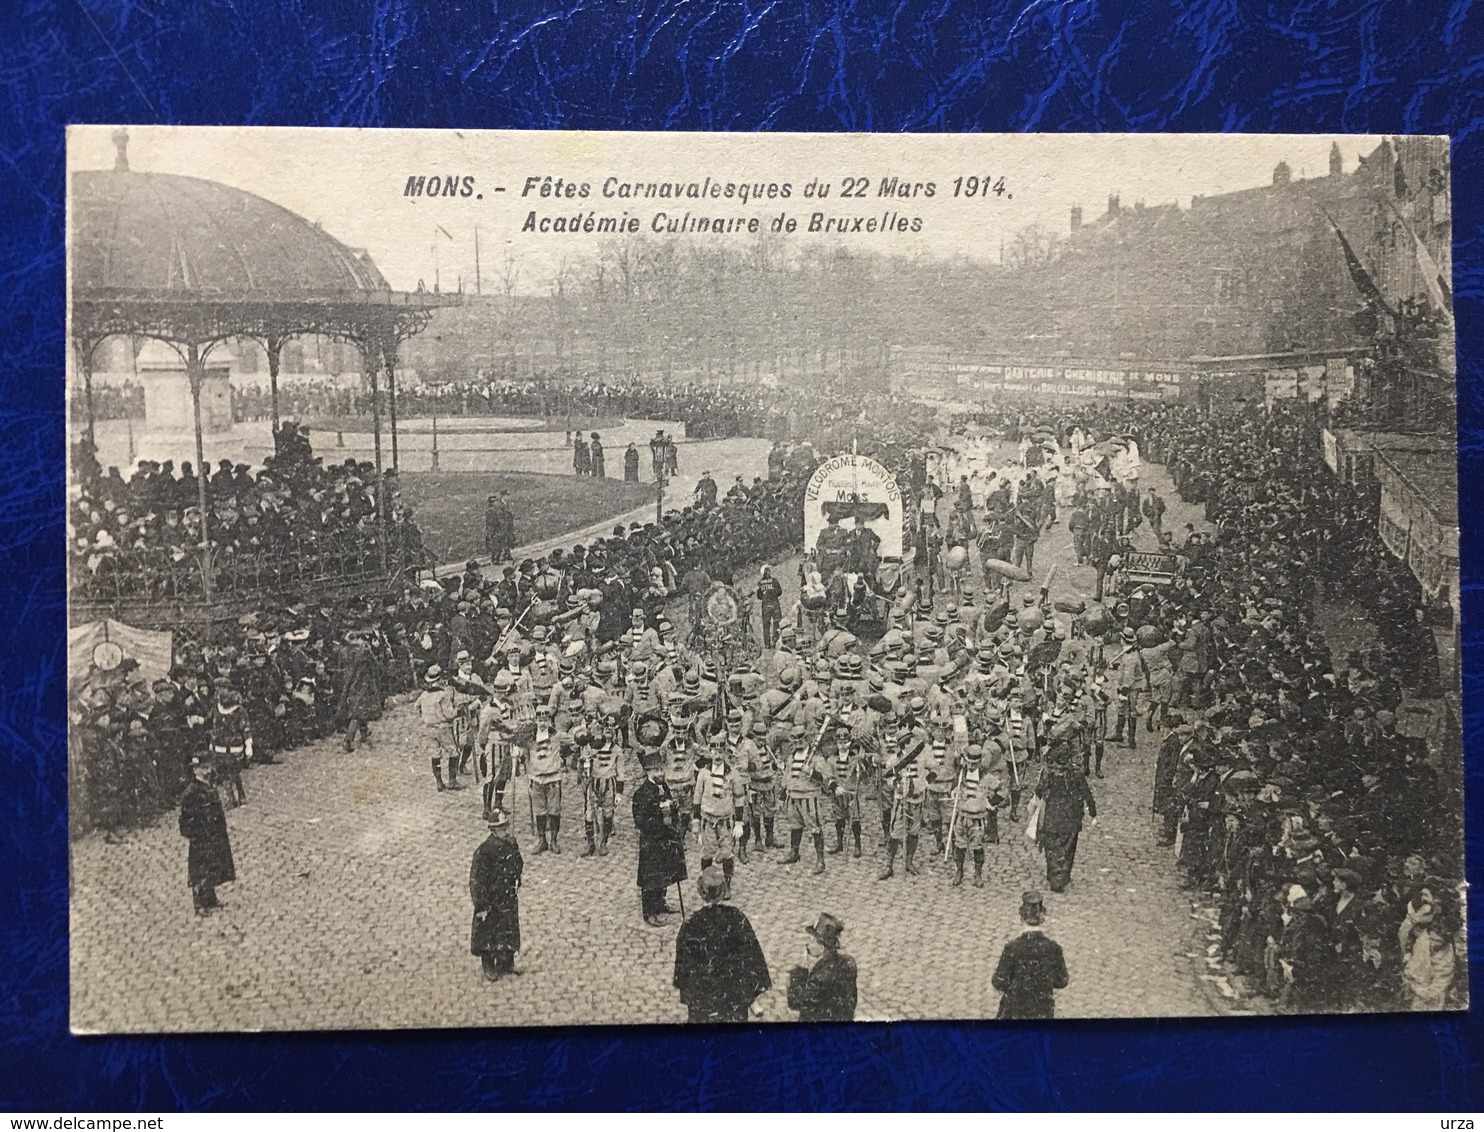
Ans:
{"type": "Polygon", "coordinates": [[[1374,521],[1301,408],[1162,408],[1123,426],[1217,530],[1141,602],[1158,635],[1199,622],[1212,638],[1163,739],[1155,810],[1211,901],[1217,954],[1296,1013],[1462,1001],[1460,767],[1398,725],[1404,691],[1435,694],[1435,672],[1386,645],[1340,662],[1316,619],[1321,579],[1373,617],[1399,599],[1374,521]]]}

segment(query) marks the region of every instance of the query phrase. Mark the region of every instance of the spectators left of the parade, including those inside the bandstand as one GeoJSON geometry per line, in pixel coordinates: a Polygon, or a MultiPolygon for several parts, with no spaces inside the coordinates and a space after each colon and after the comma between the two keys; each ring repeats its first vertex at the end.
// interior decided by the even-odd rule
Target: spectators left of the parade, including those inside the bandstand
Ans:
{"type": "MultiPolygon", "coordinates": [[[[714,500],[697,498],[669,510],[660,522],[616,527],[607,537],[524,559],[497,576],[470,568],[441,583],[401,577],[372,598],[329,599],[313,579],[285,579],[264,592],[255,613],[177,629],[174,668],[153,684],[141,682],[131,662],[113,672],[89,674],[70,702],[73,801],[79,807],[73,828],[120,831],[169,809],[188,780],[190,760],[208,749],[212,712],[223,693],[240,700],[254,736],[252,757],[267,761],[346,724],[338,700],[347,648],[371,650],[383,693],[390,696],[418,687],[432,665],[448,671],[463,650],[484,660],[506,629],[519,623],[528,632],[558,616],[579,589],[603,595],[594,634],[598,641],[613,641],[629,628],[635,607],[657,625],[671,599],[697,595],[712,580],[741,582],[743,567],[798,547],[803,493],[818,451],[853,441],[904,479],[914,475],[913,467],[920,473],[916,448],[929,435],[933,411],[905,402],[895,407],[899,411],[873,411],[880,408],[884,405],[818,398],[810,423],[828,447],[779,444],[767,478],[739,479],[714,500]]],[[[283,525],[294,531],[304,513],[324,518],[329,510],[364,530],[375,503],[367,469],[350,463],[322,467],[294,426],[285,426],[285,441],[289,451],[280,444],[279,455],[258,475],[242,467],[212,473],[208,490],[215,510],[224,518],[236,513],[254,531],[249,537],[258,539],[282,536],[283,525]],[[264,503],[264,497],[272,501],[264,503]],[[331,501],[332,509],[325,506],[331,501]],[[298,518],[280,524],[285,507],[297,509],[298,518]]],[[[175,475],[169,466],[145,464],[129,481],[110,470],[88,485],[86,503],[79,503],[77,555],[116,570],[116,558],[113,567],[102,567],[102,561],[120,542],[145,549],[141,544],[157,537],[160,524],[171,533],[177,524],[193,530],[188,512],[194,491],[188,467],[175,475]],[[139,528],[142,516],[153,518],[139,528]],[[108,531],[101,542],[99,531],[108,531]],[[113,531],[132,534],[120,540],[113,531]]],[[[405,522],[411,527],[410,516],[405,522]]],[[[166,537],[169,542],[153,547],[156,553],[190,553],[188,534],[166,537]]],[[[96,577],[95,567],[82,562],[82,568],[96,577]]]]}

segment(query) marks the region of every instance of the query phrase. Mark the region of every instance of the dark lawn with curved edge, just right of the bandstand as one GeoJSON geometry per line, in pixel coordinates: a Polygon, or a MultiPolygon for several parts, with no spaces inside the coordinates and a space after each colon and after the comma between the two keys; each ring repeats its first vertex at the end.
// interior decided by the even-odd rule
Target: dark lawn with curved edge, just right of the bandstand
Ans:
{"type": "Polygon", "coordinates": [[[484,553],[484,503],[497,491],[510,493],[516,546],[582,530],[654,498],[653,484],[539,472],[402,472],[398,479],[438,562],[484,553]]]}

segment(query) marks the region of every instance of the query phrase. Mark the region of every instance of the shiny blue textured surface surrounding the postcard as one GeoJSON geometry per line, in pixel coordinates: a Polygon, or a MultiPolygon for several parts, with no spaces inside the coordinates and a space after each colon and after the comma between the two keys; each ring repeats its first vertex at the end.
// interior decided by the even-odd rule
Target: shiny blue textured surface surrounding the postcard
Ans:
{"type": "MultiPolygon", "coordinates": [[[[12,0],[4,9],[0,1107],[1468,1110],[1484,1096],[1477,1018],[74,1039],[61,389],[68,122],[1451,134],[1477,874],[1484,4],[12,0]]],[[[1484,945],[1477,918],[1472,935],[1484,945]]]]}

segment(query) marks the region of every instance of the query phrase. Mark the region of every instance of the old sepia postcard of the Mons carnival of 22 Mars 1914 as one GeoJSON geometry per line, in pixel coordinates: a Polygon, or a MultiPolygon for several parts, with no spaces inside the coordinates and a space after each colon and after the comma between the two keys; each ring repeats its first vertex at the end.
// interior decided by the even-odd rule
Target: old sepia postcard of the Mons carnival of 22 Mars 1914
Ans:
{"type": "Polygon", "coordinates": [[[1448,139],[77,126],[79,1033],[1468,1004],[1448,139]]]}

